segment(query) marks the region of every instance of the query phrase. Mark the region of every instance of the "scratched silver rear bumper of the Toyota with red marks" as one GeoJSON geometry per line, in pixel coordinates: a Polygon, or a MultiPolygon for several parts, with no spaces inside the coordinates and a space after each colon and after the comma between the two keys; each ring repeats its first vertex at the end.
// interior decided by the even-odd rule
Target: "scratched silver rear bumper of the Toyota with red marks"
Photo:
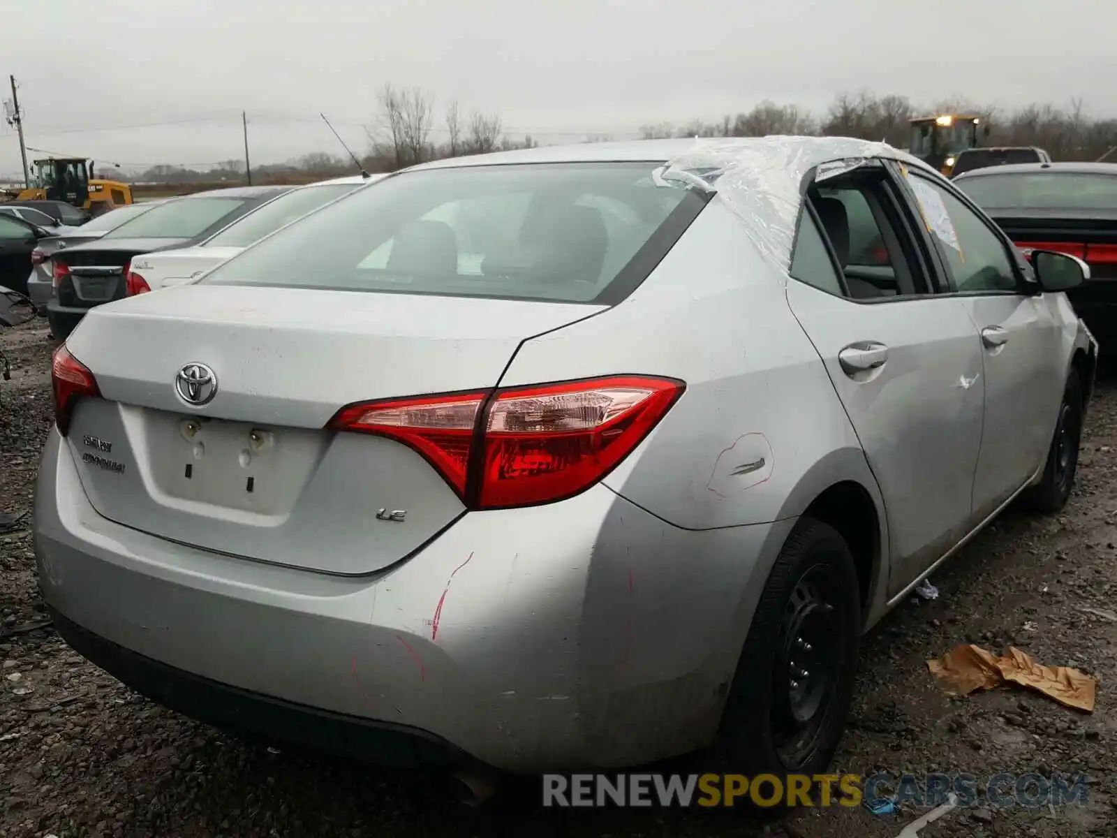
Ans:
{"type": "Polygon", "coordinates": [[[599,485],[467,514],[407,562],[331,577],[109,522],[59,442],[54,431],[39,473],[36,555],[78,651],[203,721],[326,750],[334,734],[290,720],[386,726],[509,771],[708,743],[794,523],[684,531],[599,485]],[[260,730],[254,702],[281,707],[280,723],[260,730]]]}

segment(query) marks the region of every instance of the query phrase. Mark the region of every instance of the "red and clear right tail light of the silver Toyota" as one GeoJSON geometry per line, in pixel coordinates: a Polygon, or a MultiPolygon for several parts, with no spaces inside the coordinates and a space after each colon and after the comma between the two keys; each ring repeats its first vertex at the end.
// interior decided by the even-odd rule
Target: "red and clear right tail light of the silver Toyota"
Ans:
{"type": "Polygon", "coordinates": [[[342,408],[327,427],[410,446],[468,508],[533,506],[599,483],[685,389],[676,379],[610,375],[388,399],[342,408]]]}

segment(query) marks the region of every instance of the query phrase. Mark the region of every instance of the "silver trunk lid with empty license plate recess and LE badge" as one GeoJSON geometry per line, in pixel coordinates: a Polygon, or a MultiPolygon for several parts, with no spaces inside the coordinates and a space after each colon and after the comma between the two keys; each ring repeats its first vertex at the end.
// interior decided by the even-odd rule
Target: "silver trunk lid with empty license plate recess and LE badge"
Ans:
{"type": "Polygon", "coordinates": [[[330,419],[355,401],[494,387],[523,340],[599,310],[206,285],[143,294],[93,310],[67,344],[104,397],[78,402],[68,445],[106,518],[232,555],[374,572],[465,507],[411,448],[325,430],[330,419]],[[191,363],[217,379],[201,406],[176,394],[191,363]]]}

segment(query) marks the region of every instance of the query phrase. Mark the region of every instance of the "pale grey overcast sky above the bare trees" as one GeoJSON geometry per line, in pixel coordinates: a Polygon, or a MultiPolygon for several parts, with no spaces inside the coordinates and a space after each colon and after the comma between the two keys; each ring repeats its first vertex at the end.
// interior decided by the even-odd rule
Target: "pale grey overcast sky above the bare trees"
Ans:
{"type": "Polygon", "coordinates": [[[242,158],[242,109],[254,163],[341,152],[319,111],[364,151],[385,82],[547,142],[862,88],[1117,115],[1101,0],[0,0],[0,30],[28,145],[130,168],[242,158]]]}

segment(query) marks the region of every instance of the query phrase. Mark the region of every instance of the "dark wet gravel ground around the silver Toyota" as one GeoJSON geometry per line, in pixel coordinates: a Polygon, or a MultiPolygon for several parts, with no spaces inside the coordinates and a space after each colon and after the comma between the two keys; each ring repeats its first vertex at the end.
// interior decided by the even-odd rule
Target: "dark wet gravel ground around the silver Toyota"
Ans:
{"type": "MultiPolygon", "coordinates": [[[[814,809],[761,821],[739,810],[543,811],[534,791],[464,816],[437,778],[385,774],[245,744],[151,704],[74,654],[46,621],[28,531],[39,447],[51,422],[42,321],[0,333],[12,380],[0,382],[0,838],[7,836],[751,836],[891,838],[920,812],[875,817],[814,809]]],[[[871,773],[1081,772],[1089,801],[1063,810],[955,810],[938,836],[1114,835],[1117,822],[1117,383],[1091,407],[1079,483],[1065,514],[1010,512],[863,645],[837,763],[871,773]],[[1040,663],[1100,678],[1092,715],[1035,694],[939,694],[926,660],[955,644],[1008,644],[1040,663]]]]}

